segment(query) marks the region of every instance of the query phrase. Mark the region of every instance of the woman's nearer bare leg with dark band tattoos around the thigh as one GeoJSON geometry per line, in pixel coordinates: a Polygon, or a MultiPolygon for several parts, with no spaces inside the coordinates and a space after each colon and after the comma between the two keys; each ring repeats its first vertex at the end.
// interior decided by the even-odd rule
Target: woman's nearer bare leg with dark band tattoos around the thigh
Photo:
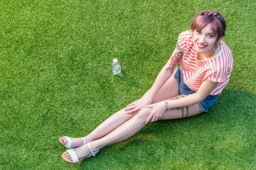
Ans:
{"type": "MultiPolygon", "coordinates": [[[[179,96],[182,97],[182,96],[179,96]]],[[[185,108],[175,108],[170,111],[166,111],[161,119],[177,119],[182,117],[194,116],[202,111],[199,108],[199,105],[192,105],[185,108]]],[[[138,114],[133,116],[130,120],[124,124],[117,127],[108,135],[90,142],[90,146],[93,151],[99,150],[101,147],[104,147],[108,144],[113,144],[125,140],[135,133],[137,133],[142,127],[145,126],[145,121],[148,119],[148,116],[151,113],[151,108],[143,108],[138,114]]],[[[90,155],[90,150],[86,145],[81,147],[74,148],[76,155],[80,158],[90,155]]],[[[69,153],[65,152],[68,159],[72,160],[69,153]]]]}

